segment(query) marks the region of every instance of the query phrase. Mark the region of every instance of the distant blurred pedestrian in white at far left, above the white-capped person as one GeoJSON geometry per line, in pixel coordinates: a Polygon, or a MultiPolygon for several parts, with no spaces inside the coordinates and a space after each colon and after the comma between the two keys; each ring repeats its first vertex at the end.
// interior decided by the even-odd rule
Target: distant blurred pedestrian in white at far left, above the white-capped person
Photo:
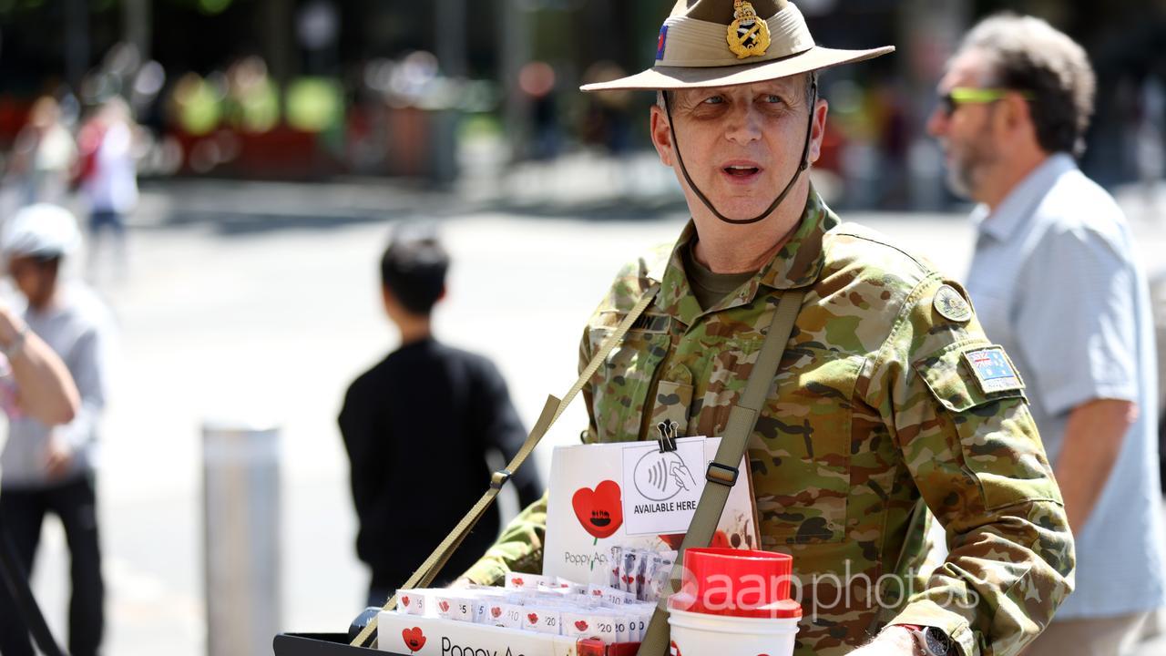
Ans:
{"type": "Polygon", "coordinates": [[[21,181],[22,204],[64,202],[76,159],[77,145],[61,119],[61,106],[51,96],[37,98],[16,134],[8,169],[21,181]]]}

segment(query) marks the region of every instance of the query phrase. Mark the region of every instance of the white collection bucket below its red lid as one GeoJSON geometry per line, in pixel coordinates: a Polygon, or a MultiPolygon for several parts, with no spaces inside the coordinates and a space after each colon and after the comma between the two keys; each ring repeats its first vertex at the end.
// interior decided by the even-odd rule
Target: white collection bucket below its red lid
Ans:
{"type": "Polygon", "coordinates": [[[670,656],[793,656],[798,617],[735,617],[673,608],[670,656]]]}

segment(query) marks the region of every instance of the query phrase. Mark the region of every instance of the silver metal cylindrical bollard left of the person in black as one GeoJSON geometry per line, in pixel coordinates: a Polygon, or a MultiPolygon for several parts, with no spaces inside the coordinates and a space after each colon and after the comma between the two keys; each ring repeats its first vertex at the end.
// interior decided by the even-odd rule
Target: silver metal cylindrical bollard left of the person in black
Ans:
{"type": "Polygon", "coordinates": [[[271,651],[280,630],[279,428],[203,424],[206,654],[271,651]]]}

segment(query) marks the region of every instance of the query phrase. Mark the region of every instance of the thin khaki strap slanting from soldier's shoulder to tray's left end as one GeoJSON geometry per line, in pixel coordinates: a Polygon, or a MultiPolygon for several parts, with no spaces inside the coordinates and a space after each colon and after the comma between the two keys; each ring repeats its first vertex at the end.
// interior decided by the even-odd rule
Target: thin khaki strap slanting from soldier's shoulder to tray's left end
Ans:
{"type": "MultiPolygon", "coordinates": [[[[531,433],[527,435],[526,442],[522,444],[522,447],[517,454],[514,454],[514,458],[510,461],[505,469],[494,472],[494,475],[490,481],[490,489],[482,495],[482,498],[473,504],[473,508],[465,514],[465,517],[462,517],[462,521],[458,522],[457,526],[455,526],[454,530],[445,536],[445,539],[437,545],[437,549],[429,554],[429,558],[427,558],[426,561],[422,563],[415,572],[413,572],[413,575],[410,575],[409,579],[398,589],[426,587],[433,582],[433,580],[441,572],[442,567],[445,566],[450,556],[452,556],[457,547],[461,546],[465,536],[470,535],[473,525],[478,523],[478,519],[480,519],[486,509],[490,508],[490,504],[494,502],[494,497],[498,496],[498,493],[501,490],[506,481],[510,480],[515,472],[518,472],[518,468],[521,467],[524,462],[526,462],[527,456],[529,456],[531,452],[534,451],[534,447],[539,445],[539,440],[547,434],[552,424],[559,419],[559,417],[563,413],[563,410],[570,405],[575,396],[583,389],[583,385],[585,385],[588,381],[591,379],[591,376],[595,375],[596,370],[599,369],[599,365],[603,364],[604,360],[606,360],[611,349],[616,348],[616,344],[624,339],[624,335],[632,327],[632,324],[635,323],[635,320],[639,319],[640,314],[642,314],[648,305],[652,303],[652,300],[655,298],[659,289],[659,285],[648,287],[648,289],[644,293],[644,296],[640,298],[635,306],[627,313],[627,316],[625,316],[619,323],[619,327],[616,328],[616,332],[607,336],[607,339],[599,347],[599,350],[591,357],[591,362],[589,362],[583,369],[583,374],[580,375],[578,381],[576,381],[575,384],[571,385],[571,389],[567,391],[567,396],[563,397],[563,400],[559,400],[553,395],[547,397],[547,403],[542,406],[542,413],[539,416],[539,420],[534,424],[534,428],[532,428],[531,433]]],[[[385,610],[391,610],[395,607],[396,593],[394,593],[393,596],[385,602],[384,608],[385,610]]],[[[367,643],[370,642],[370,637],[372,637],[374,630],[377,630],[375,617],[373,617],[364,630],[361,630],[360,634],[353,638],[351,644],[353,647],[368,645],[367,643]]]]}

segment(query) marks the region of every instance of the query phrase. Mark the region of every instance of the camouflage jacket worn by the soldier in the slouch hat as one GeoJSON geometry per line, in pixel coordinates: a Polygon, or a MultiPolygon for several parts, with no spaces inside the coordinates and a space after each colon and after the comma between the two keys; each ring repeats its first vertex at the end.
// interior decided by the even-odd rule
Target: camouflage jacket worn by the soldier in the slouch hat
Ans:
{"type": "MultiPolygon", "coordinates": [[[[584,388],[584,439],[646,439],[665,419],[719,435],[777,299],[803,289],[747,448],[761,546],[792,553],[801,584],[796,654],[847,654],[886,623],[940,627],[963,656],[1018,654],[1072,589],[1073,539],[1019,376],[972,365],[995,351],[1011,368],[963,289],[812,194],[774,259],[704,310],[680,254],[693,236],[625,267],[589,321],[581,367],[660,285],[584,388]],[[926,563],[930,514],[942,563],[926,563]]],[[[536,571],[545,521],[545,503],[526,509],[468,574],[536,571]]]]}

